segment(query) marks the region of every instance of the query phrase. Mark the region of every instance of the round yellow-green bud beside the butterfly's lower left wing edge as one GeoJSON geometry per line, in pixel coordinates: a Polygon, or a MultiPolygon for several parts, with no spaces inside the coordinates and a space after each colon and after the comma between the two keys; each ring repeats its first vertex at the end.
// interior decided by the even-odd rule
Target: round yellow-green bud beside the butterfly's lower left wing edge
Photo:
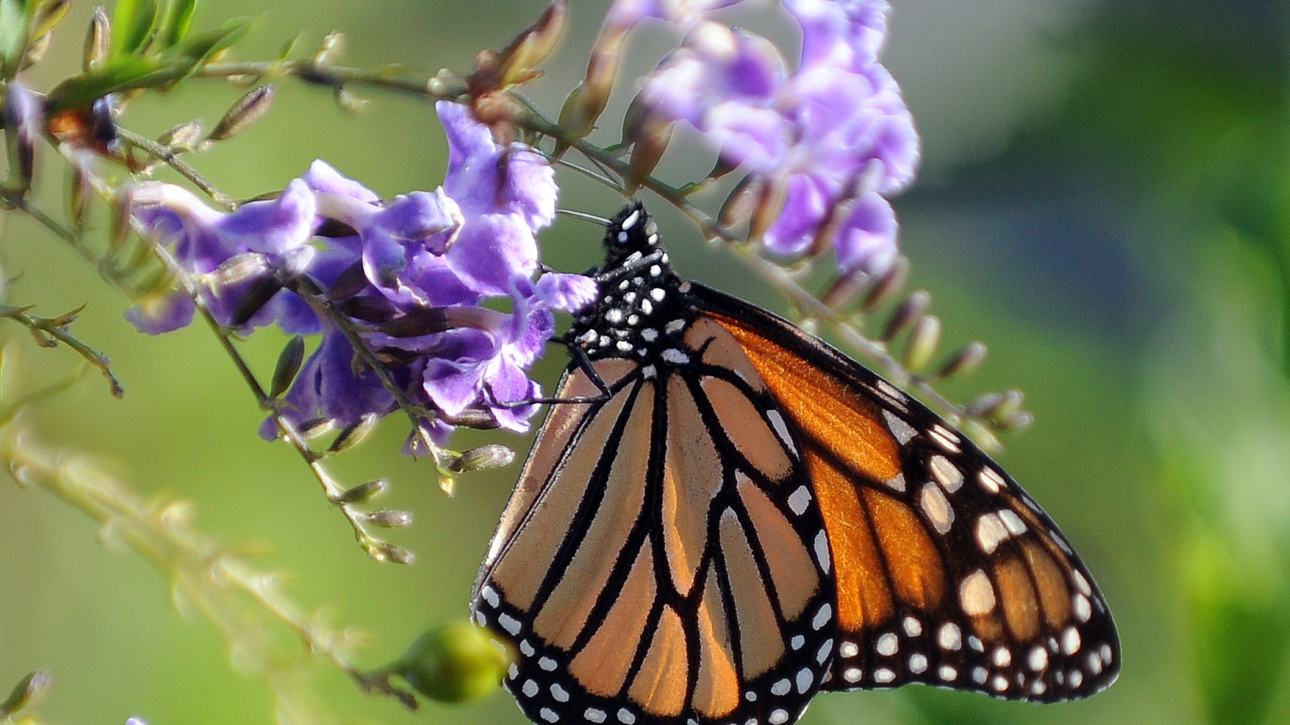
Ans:
{"type": "Polygon", "coordinates": [[[502,645],[459,619],[418,637],[391,671],[430,699],[466,702],[491,694],[508,664],[502,645]]]}

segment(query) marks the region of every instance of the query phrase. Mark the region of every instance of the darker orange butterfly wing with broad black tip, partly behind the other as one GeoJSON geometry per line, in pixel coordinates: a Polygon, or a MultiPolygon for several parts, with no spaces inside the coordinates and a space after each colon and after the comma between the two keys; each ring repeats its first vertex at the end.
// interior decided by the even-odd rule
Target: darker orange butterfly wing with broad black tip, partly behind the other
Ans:
{"type": "Polygon", "coordinates": [[[1087,569],[984,453],[819,338],[682,289],[738,341],[802,449],[837,581],[826,689],[926,682],[1053,702],[1116,680],[1115,624],[1087,569]]]}

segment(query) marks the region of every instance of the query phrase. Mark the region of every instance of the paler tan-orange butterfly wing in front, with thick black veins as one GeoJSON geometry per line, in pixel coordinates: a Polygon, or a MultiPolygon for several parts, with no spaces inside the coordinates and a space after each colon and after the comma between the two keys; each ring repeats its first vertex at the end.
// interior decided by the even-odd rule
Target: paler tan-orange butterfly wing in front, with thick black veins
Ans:
{"type": "MultiPolygon", "coordinates": [[[[737,350],[712,330],[593,361],[610,395],[553,408],[525,464],[472,608],[515,645],[506,686],[534,721],[782,725],[828,675],[823,519],[769,391],[710,360],[737,350]]],[[[565,374],[561,397],[595,395],[565,374]]]]}

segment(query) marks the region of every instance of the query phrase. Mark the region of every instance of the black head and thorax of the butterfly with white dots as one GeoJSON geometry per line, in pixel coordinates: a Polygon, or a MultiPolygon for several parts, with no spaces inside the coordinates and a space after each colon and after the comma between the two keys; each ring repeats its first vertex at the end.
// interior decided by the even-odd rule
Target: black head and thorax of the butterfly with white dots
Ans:
{"type": "Polygon", "coordinates": [[[600,297],[574,317],[569,339],[592,360],[666,360],[663,352],[685,328],[686,306],[658,227],[640,203],[610,221],[605,248],[605,264],[593,273],[600,297]]]}

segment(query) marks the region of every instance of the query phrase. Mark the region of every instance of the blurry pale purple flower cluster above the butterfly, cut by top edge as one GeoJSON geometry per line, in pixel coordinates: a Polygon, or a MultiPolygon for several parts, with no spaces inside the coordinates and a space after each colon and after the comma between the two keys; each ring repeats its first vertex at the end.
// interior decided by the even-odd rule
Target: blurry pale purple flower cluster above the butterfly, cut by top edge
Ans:
{"type": "Polygon", "coordinates": [[[644,80],[645,112],[688,121],[725,163],[782,186],[783,212],[764,235],[771,252],[801,254],[824,235],[844,272],[882,273],[897,255],[886,197],[918,161],[913,119],[878,63],[886,0],[784,0],[802,30],[792,74],[766,39],[702,18],[730,4],[618,4],[620,15],[688,27],[644,80]]]}

